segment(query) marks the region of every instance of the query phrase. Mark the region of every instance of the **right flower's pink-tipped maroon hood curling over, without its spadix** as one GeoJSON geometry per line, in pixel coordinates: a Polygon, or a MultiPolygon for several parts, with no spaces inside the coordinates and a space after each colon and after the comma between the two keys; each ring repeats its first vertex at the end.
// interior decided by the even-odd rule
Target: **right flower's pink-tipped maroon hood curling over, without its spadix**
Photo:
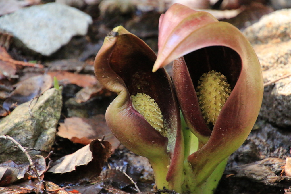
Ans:
{"type": "Polygon", "coordinates": [[[203,182],[242,145],[255,123],[263,94],[260,63],[237,28],[181,4],[161,16],[158,45],[153,71],[174,60],[173,83],[181,111],[204,145],[188,161],[197,181],[203,182]],[[210,70],[225,75],[232,89],[213,129],[202,117],[195,92],[199,77],[210,70]]]}

